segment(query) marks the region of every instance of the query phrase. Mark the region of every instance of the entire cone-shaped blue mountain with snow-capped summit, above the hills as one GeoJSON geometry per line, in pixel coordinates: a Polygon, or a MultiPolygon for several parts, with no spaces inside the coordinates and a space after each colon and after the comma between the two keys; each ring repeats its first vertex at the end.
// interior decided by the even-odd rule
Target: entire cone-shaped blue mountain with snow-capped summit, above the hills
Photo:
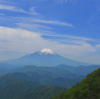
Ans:
{"type": "Polygon", "coordinates": [[[36,66],[56,66],[59,64],[66,64],[71,66],[90,65],[88,63],[78,62],[68,58],[64,58],[51,49],[42,49],[33,54],[26,55],[17,59],[4,61],[4,63],[12,65],[36,65],[36,66]]]}

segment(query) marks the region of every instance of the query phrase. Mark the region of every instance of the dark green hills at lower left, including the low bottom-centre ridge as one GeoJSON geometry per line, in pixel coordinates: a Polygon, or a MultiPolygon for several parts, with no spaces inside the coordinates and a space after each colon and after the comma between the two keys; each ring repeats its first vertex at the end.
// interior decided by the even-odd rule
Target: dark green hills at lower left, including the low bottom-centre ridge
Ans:
{"type": "Polygon", "coordinates": [[[0,77],[0,99],[49,99],[67,88],[44,86],[35,83],[24,73],[7,74],[0,77]]]}

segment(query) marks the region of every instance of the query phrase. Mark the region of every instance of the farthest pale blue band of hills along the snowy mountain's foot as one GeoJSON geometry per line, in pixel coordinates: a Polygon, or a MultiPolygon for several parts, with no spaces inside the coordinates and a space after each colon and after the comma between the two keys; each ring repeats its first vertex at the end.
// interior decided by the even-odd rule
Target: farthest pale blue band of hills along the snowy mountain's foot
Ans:
{"type": "MultiPolygon", "coordinates": [[[[53,67],[35,66],[35,65],[17,66],[17,65],[0,63],[0,76],[5,75],[7,73],[16,72],[16,71],[27,72],[27,71],[37,71],[37,70],[47,71],[47,72],[60,70],[60,72],[67,71],[67,73],[69,72],[70,74],[73,73],[73,74],[77,74],[77,75],[81,75],[81,76],[86,76],[87,74],[98,69],[99,67],[100,67],[100,65],[89,65],[89,66],[81,66],[80,65],[80,66],[75,67],[75,66],[70,66],[70,65],[65,65],[65,64],[60,64],[60,65],[53,66],[53,67]]],[[[71,77],[71,75],[70,76],[68,75],[68,77],[71,77]]]]}

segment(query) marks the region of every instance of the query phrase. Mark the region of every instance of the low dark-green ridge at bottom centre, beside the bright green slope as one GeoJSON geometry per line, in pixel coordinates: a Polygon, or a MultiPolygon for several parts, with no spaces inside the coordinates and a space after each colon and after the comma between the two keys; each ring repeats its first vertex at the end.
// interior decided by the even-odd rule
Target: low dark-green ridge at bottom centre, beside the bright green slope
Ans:
{"type": "Polygon", "coordinates": [[[31,90],[19,99],[49,99],[63,91],[67,91],[67,88],[60,86],[41,86],[31,90]]]}

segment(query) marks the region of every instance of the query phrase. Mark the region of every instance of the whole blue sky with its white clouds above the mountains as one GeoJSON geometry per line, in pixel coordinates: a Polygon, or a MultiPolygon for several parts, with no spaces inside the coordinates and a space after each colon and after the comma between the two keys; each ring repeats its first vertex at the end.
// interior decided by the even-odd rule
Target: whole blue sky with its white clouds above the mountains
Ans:
{"type": "Polygon", "coordinates": [[[100,0],[0,0],[0,61],[43,48],[100,64],[100,0]]]}

